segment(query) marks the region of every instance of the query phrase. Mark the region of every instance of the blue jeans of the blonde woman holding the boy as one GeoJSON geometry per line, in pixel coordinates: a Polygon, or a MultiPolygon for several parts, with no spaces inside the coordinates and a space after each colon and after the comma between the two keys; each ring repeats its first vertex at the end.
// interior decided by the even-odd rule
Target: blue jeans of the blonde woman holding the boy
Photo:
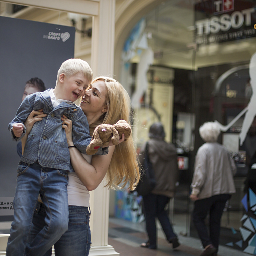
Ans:
{"type": "MultiPolygon", "coordinates": [[[[69,205],[68,230],[55,243],[54,250],[56,256],[88,256],[91,245],[91,231],[89,227],[90,208],[83,206],[69,205]]],[[[34,227],[31,231],[30,239],[44,226],[46,216],[45,207],[38,203],[33,216],[34,227]]],[[[44,256],[50,256],[50,249],[44,256]]]]}

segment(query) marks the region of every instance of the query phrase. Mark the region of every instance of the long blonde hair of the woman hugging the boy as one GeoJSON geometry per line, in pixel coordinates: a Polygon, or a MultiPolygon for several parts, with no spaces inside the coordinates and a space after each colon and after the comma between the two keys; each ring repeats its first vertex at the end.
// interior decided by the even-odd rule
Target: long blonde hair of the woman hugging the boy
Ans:
{"type": "MultiPolygon", "coordinates": [[[[113,78],[100,76],[95,78],[91,84],[96,81],[104,81],[108,90],[106,104],[108,111],[103,113],[98,121],[90,125],[90,135],[99,124],[115,124],[123,119],[130,124],[130,97],[123,86],[113,78]]],[[[127,141],[118,144],[115,147],[110,166],[107,172],[107,185],[111,187],[119,186],[124,188],[127,183],[131,190],[134,190],[139,182],[139,166],[136,157],[132,135],[127,141]]]]}

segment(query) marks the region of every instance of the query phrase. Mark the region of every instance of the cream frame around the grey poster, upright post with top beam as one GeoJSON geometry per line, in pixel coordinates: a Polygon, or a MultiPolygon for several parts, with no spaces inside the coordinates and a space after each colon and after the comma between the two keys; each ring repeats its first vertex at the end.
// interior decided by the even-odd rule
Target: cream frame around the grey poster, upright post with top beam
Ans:
{"type": "MultiPolygon", "coordinates": [[[[115,0],[2,0],[7,3],[28,5],[50,10],[74,12],[93,16],[92,26],[92,69],[94,77],[113,75],[115,0]]],[[[91,192],[92,246],[90,256],[119,255],[108,245],[109,190],[101,183],[91,192]]],[[[5,255],[8,234],[0,235],[0,255],[5,255]]],[[[54,253],[53,253],[54,255],[54,253]]]]}

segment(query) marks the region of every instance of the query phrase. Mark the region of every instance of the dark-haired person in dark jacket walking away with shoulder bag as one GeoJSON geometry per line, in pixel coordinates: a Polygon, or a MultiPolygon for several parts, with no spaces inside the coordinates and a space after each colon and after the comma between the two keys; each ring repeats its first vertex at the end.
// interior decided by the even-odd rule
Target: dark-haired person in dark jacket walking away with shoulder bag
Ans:
{"type": "MultiPolygon", "coordinates": [[[[156,186],[147,196],[143,196],[148,241],[140,246],[157,249],[157,233],[155,218],[161,223],[166,239],[173,248],[180,245],[168,218],[166,205],[175,194],[175,184],[178,180],[177,154],[174,145],[167,143],[163,125],[158,122],[149,129],[148,156],[154,169],[156,186]]],[[[141,148],[140,163],[143,164],[143,154],[146,143],[141,148]]]]}

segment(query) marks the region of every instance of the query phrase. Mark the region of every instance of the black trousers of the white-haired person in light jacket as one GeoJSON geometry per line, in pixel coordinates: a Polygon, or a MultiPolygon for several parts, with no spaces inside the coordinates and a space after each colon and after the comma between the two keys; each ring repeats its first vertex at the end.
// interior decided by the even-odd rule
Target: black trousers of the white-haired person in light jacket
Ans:
{"type": "Polygon", "coordinates": [[[215,195],[209,198],[195,201],[193,211],[193,222],[204,248],[212,244],[218,249],[220,240],[220,219],[225,208],[229,194],[215,195]],[[207,213],[210,214],[209,231],[205,225],[207,213]]]}

